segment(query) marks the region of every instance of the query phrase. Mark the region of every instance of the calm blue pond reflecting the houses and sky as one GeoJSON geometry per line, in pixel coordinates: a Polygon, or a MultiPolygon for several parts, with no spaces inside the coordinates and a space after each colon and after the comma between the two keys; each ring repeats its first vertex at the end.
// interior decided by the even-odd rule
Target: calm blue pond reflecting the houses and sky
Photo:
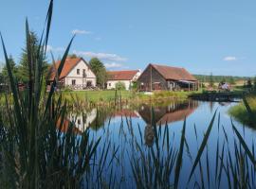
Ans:
{"type": "MultiPolygon", "coordinates": [[[[234,184],[254,186],[255,169],[232,127],[254,151],[254,129],[229,116],[234,102],[183,101],[164,105],[140,104],[117,109],[99,108],[70,114],[79,133],[90,129],[90,137],[101,137],[91,174],[84,185],[110,188],[178,187],[228,188],[234,184]],[[216,111],[210,136],[200,161],[192,165],[216,111]],[[86,115],[86,116],[85,116],[86,115]],[[182,163],[177,172],[181,134],[186,117],[182,163]],[[190,178],[192,173],[192,177],[190,178]]],[[[254,153],[254,152],[253,152],[254,153]]]]}

